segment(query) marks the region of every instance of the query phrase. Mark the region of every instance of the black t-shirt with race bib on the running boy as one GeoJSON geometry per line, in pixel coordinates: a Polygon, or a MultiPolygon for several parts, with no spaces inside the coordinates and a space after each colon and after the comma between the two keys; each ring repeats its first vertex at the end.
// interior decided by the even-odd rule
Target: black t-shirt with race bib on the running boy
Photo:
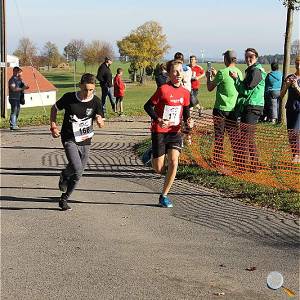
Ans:
{"type": "Polygon", "coordinates": [[[64,94],[57,102],[58,110],[65,110],[61,128],[62,142],[72,140],[78,145],[90,145],[93,132],[93,120],[103,115],[100,99],[94,96],[90,101],[82,102],[76,92],[64,94]]]}

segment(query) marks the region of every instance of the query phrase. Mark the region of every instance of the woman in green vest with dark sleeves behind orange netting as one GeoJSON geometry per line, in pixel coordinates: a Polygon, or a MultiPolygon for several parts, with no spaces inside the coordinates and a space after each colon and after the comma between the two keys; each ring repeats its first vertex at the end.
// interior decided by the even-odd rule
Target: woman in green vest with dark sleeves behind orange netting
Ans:
{"type": "Polygon", "coordinates": [[[239,93],[236,113],[241,123],[241,170],[257,171],[258,152],[255,143],[256,124],[263,114],[266,71],[258,63],[258,53],[254,48],[245,50],[245,61],[248,68],[245,70],[244,80],[236,72],[230,72],[235,87],[239,93]]]}

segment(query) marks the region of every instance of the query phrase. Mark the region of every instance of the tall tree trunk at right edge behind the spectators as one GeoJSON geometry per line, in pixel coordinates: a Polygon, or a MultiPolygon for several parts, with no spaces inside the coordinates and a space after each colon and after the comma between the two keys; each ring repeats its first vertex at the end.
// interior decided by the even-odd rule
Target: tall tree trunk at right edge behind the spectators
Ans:
{"type": "MultiPolygon", "coordinates": [[[[300,0],[281,0],[283,5],[287,9],[286,16],[286,29],[285,29],[285,40],[284,40],[284,60],[283,60],[283,79],[289,73],[289,67],[291,63],[291,39],[292,39],[292,28],[293,28],[293,13],[295,10],[300,9],[300,0]]],[[[285,105],[287,98],[284,97],[281,101],[279,122],[286,123],[285,105]]]]}

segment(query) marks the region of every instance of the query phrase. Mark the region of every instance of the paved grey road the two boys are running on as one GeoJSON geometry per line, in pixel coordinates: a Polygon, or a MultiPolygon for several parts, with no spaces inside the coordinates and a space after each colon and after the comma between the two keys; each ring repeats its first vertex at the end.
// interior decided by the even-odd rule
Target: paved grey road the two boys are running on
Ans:
{"type": "Polygon", "coordinates": [[[299,220],[184,181],[157,207],[163,178],[132,150],[147,127],[97,130],[71,212],[60,141],[1,131],[1,299],[287,299],[266,288],[274,270],[299,295],[299,220]]]}

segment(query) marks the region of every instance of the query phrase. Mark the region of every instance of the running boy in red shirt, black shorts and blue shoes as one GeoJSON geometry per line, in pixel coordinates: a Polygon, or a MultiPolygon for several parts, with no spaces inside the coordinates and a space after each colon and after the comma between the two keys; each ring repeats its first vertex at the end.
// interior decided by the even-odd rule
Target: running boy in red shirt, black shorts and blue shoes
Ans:
{"type": "Polygon", "coordinates": [[[174,182],[178,159],[182,149],[181,121],[190,128],[190,93],[182,83],[182,62],[171,60],[167,63],[170,81],[159,87],[144,105],[145,111],[152,119],[152,166],[156,173],[164,169],[165,156],[168,155],[168,170],[159,204],[173,207],[168,192],[174,182]]]}

